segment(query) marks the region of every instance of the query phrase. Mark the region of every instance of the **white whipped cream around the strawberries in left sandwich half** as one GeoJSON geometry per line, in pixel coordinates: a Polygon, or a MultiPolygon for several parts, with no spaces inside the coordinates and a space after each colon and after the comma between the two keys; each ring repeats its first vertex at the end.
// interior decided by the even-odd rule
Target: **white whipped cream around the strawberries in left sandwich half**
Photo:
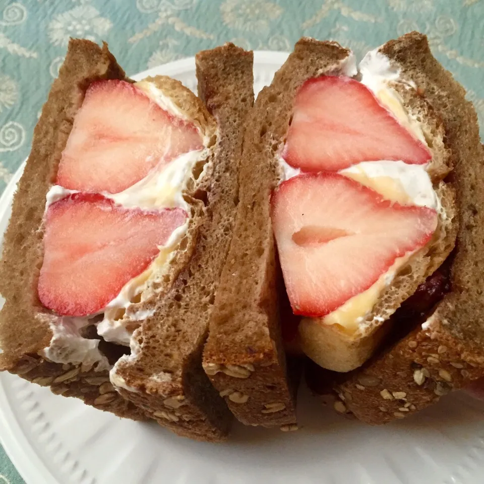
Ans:
{"type": "MultiPolygon", "coordinates": [[[[135,85],[142,89],[165,111],[177,118],[190,120],[153,83],[140,81],[135,85]]],[[[170,263],[178,249],[180,241],[187,234],[191,208],[185,200],[183,192],[187,189],[190,180],[198,183],[205,176],[207,170],[206,163],[197,180],[193,179],[193,170],[197,163],[207,160],[212,151],[211,148],[208,148],[210,137],[203,133],[202,135],[204,148],[184,153],[169,163],[155,167],[143,179],[123,192],[116,194],[101,192],[101,195],[104,197],[126,208],[139,208],[143,210],[181,208],[185,210],[188,217],[183,225],[180,225],[171,233],[163,246],[158,246],[159,254],[148,268],[126,283],[119,291],[119,294],[105,308],[98,313],[84,317],[56,318],[56,321],[60,322],[50,324],[54,336],[50,345],[43,350],[44,355],[50,360],[55,362],[73,362],[74,359],[69,358],[75,358],[77,362],[83,357],[84,359],[80,359],[79,362],[89,364],[97,353],[99,358],[102,357],[105,359],[97,349],[98,340],[85,339],[79,333],[81,328],[95,324],[93,323],[93,318],[98,317],[96,319],[99,320],[99,315],[103,315],[104,317],[102,321],[97,323],[98,334],[106,341],[127,346],[130,345],[130,339],[133,333],[133,330],[129,328],[130,323],[142,321],[153,315],[154,310],[133,311],[133,305],[135,304],[133,301],[136,300],[136,303],[143,302],[146,298],[145,291],[148,287],[153,283],[162,281],[163,276],[169,271],[170,263]],[[127,313],[129,309],[131,311],[127,313]]],[[[46,195],[45,211],[47,211],[52,203],[73,193],[78,193],[78,191],[53,185],[46,195]]],[[[107,359],[103,361],[102,367],[103,369],[109,368],[107,359]]]]}

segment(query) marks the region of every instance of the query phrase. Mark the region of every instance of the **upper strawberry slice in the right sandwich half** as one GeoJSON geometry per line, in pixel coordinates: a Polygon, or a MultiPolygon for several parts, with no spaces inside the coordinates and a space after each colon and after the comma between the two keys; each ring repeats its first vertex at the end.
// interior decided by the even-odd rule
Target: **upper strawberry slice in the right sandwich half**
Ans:
{"type": "Polygon", "coordinates": [[[432,155],[364,84],[322,76],[296,94],[282,157],[304,171],[338,171],[360,161],[423,164],[432,155]]]}

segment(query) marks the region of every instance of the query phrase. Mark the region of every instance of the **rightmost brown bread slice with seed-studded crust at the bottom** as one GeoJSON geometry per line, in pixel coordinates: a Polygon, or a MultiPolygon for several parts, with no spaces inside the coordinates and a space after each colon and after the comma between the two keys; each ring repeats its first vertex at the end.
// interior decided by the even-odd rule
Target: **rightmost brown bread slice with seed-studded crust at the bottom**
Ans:
{"type": "Polygon", "coordinates": [[[443,120],[453,158],[449,180],[457,193],[459,228],[452,291],[427,324],[336,387],[347,409],[372,424],[403,418],[484,374],[484,151],[477,116],[464,89],[432,56],[425,35],[412,32],[380,51],[416,83],[443,120]]]}

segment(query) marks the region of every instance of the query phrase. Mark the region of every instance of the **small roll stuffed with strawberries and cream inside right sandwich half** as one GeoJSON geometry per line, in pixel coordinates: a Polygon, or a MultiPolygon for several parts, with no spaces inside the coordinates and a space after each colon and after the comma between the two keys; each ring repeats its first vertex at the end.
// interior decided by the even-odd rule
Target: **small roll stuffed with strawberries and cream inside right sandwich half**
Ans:
{"type": "Polygon", "coordinates": [[[359,72],[352,58],[305,78],[287,116],[271,213],[286,289],[302,350],[348,372],[454,247],[452,152],[425,94],[379,51],[359,72]]]}

